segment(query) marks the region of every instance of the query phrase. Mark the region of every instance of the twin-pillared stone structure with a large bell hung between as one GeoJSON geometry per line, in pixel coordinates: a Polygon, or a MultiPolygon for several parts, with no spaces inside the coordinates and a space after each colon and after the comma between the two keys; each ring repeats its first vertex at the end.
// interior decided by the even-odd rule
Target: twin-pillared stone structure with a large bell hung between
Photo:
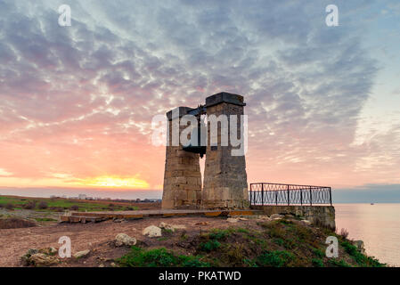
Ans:
{"type": "MultiPolygon", "coordinates": [[[[244,153],[233,156],[235,149],[229,140],[228,145],[221,145],[221,126],[217,123],[217,145],[210,143],[210,122],[207,125],[201,121],[200,115],[231,115],[238,116],[237,137],[241,137],[241,115],[246,104],[238,94],[219,93],[206,98],[206,104],[198,108],[179,107],[167,112],[167,151],[164,174],[162,208],[165,209],[233,209],[249,208],[249,194],[244,153]],[[174,114],[179,110],[179,115],[174,114]],[[174,112],[175,111],[175,112],[174,112]],[[184,115],[194,115],[198,118],[198,127],[193,130],[200,134],[200,129],[206,129],[207,137],[201,137],[207,143],[192,146],[193,133],[189,134],[191,145],[173,140],[173,124],[179,124],[184,115]],[[200,157],[206,155],[204,169],[204,184],[201,183],[200,157]]],[[[179,136],[188,125],[176,125],[179,136]]],[[[231,125],[228,124],[229,131],[231,125]]],[[[230,133],[229,133],[230,134],[230,133]]],[[[175,134],[176,135],[176,134],[175,134]]],[[[200,142],[200,135],[198,136],[200,142]]],[[[223,143],[224,144],[224,143],[223,143]]]]}

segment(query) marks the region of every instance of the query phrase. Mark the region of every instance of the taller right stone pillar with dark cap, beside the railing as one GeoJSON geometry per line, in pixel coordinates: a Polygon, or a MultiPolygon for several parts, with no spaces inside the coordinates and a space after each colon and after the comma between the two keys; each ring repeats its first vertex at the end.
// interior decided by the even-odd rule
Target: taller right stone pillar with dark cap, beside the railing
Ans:
{"type": "MultiPolygon", "coordinates": [[[[208,118],[210,115],[237,115],[237,131],[241,132],[243,97],[237,94],[220,93],[206,99],[208,118]]],[[[228,120],[229,121],[229,120],[228,120]]],[[[230,131],[229,126],[229,131],[230,131]]],[[[218,145],[210,145],[210,122],[208,121],[208,146],[204,170],[202,208],[249,208],[246,161],[243,156],[232,156],[233,146],[221,145],[221,125],[218,123],[218,145]]],[[[229,133],[228,133],[229,134],[229,133]]],[[[240,134],[237,134],[240,138],[240,134]]]]}

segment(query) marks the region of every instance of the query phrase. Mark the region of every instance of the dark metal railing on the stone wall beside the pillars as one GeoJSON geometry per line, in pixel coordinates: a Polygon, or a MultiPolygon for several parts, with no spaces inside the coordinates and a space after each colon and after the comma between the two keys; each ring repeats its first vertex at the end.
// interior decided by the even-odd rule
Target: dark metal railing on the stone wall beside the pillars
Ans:
{"type": "Polygon", "coordinates": [[[331,187],[250,183],[250,205],[332,205],[331,187]]]}

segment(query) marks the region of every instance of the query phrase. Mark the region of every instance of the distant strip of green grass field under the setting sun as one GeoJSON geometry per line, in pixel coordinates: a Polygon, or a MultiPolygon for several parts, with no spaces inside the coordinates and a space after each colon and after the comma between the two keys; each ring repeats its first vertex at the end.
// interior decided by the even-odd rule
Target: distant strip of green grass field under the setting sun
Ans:
{"type": "Polygon", "coordinates": [[[78,207],[78,211],[122,211],[137,210],[137,207],[131,205],[119,205],[107,203],[96,203],[93,201],[83,201],[75,199],[46,199],[46,198],[23,198],[14,196],[0,196],[0,208],[10,209],[34,209],[37,211],[62,211],[68,210],[74,206],[78,207]]]}

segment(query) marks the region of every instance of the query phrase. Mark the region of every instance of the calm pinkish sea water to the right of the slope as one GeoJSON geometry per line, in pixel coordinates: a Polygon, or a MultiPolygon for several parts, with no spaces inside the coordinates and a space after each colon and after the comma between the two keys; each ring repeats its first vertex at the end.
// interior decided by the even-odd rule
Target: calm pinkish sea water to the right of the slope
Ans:
{"type": "Polygon", "coordinates": [[[369,256],[400,266],[400,204],[335,204],[336,226],[363,240],[369,256]]]}

